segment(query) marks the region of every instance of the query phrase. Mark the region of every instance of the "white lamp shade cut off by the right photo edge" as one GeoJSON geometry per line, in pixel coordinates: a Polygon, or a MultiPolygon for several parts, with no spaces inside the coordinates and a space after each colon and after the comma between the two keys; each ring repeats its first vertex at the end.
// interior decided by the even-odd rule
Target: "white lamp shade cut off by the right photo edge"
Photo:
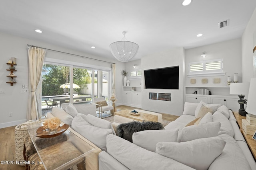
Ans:
{"type": "Polygon", "coordinates": [[[256,78],[251,78],[246,112],[256,115],[256,78]]]}

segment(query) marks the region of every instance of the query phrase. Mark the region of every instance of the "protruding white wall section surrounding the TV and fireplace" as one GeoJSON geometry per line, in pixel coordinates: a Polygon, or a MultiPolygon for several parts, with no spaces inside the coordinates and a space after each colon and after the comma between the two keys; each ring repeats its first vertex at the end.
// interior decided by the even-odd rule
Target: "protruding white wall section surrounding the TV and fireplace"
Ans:
{"type": "MultiPolygon", "coordinates": [[[[167,113],[172,115],[182,115],[183,112],[183,86],[184,86],[184,49],[177,47],[168,51],[142,57],[142,70],[179,66],[179,89],[142,89],[142,109],[167,113]],[[149,93],[170,93],[171,101],[150,100],[149,93]]],[[[143,72],[142,72],[143,74],[143,72]]],[[[144,79],[142,78],[144,86],[144,79]]]]}

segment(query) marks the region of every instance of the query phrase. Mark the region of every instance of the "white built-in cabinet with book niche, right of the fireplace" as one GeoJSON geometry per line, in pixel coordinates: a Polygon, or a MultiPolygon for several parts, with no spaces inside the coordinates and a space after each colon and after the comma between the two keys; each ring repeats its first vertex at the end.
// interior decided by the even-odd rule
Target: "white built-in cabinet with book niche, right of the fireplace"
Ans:
{"type": "Polygon", "coordinates": [[[238,104],[239,97],[228,95],[230,90],[228,86],[204,88],[209,89],[212,92],[212,95],[192,94],[192,92],[196,91],[196,87],[186,87],[185,102],[199,103],[202,100],[203,102],[208,104],[225,105],[228,107],[228,109],[232,109],[233,111],[238,111],[238,109],[240,108],[240,104],[238,104]],[[191,94],[188,94],[189,92],[191,94]]]}

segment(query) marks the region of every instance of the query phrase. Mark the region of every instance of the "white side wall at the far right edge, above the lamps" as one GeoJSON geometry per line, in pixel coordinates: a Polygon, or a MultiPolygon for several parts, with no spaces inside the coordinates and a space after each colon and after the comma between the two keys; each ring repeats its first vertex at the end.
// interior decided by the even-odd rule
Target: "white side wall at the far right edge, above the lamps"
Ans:
{"type": "Polygon", "coordinates": [[[243,82],[250,82],[253,77],[252,69],[252,49],[253,45],[252,36],[256,33],[256,9],[254,10],[250,21],[242,35],[242,79],[243,82]]]}

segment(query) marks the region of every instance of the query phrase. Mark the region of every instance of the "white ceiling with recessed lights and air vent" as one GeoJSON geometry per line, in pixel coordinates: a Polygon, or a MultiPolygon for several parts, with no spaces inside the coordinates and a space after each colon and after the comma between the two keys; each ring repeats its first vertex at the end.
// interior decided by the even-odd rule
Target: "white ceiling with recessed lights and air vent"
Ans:
{"type": "Polygon", "coordinates": [[[127,41],[139,45],[136,60],[240,38],[256,8],[256,0],[192,0],[188,6],[182,1],[1,0],[0,32],[113,59],[109,45],[127,31],[127,41]],[[228,26],[219,28],[224,20],[228,26]]]}

